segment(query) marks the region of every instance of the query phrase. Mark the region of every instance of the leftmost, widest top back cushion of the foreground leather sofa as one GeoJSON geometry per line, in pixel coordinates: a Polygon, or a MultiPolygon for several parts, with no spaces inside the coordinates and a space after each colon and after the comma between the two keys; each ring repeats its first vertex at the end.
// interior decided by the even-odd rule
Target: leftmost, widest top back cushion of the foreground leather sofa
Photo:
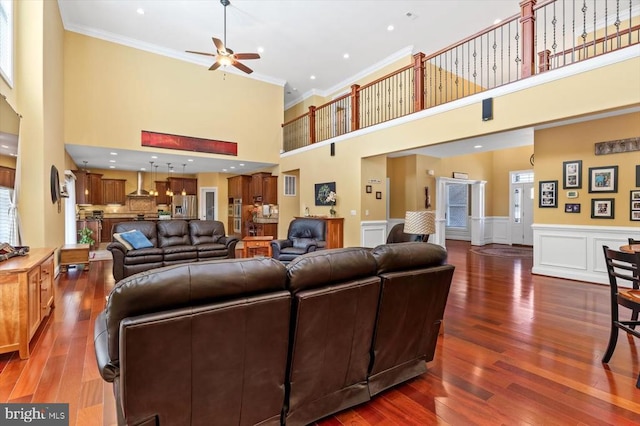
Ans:
{"type": "Polygon", "coordinates": [[[126,277],[116,283],[107,300],[109,358],[119,359],[119,328],[124,318],[285,290],[286,280],[284,265],[265,257],[179,264],[126,277]]]}

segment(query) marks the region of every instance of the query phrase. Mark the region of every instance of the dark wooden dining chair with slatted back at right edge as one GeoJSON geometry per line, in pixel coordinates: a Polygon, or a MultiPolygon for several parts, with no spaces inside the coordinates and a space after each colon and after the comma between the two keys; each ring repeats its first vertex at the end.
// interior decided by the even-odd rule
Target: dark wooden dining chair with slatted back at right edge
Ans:
{"type": "MultiPolygon", "coordinates": [[[[640,291],[638,290],[640,253],[625,253],[611,250],[607,246],[602,248],[607,265],[607,274],[609,275],[611,294],[611,334],[607,351],[602,357],[602,362],[606,364],[611,359],[616,348],[618,329],[640,338],[640,332],[635,330],[635,326],[640,324],[637,317],[635,320],[631,319],[629,321],[622,321],[619,318],[620,306],[629,308],[636,314],[637,311],[640,311],[640,291]],[[631,288],[620,288],[620,283],[627,283],[631,288]]],[[[636,387],[640,388],[640,374],[638,374],[636,387]]]]}

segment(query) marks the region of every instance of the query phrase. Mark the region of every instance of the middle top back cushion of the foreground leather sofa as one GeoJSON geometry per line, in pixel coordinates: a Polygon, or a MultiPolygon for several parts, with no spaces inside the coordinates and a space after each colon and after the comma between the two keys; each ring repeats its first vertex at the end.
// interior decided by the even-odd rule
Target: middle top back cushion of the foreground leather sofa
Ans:
{"type": "Polygon", "coordinates": [[[376,275],[376,261],[365,248],[350,247],[307,253],[287,265],[289,289],[330,285],[376,275]]]}

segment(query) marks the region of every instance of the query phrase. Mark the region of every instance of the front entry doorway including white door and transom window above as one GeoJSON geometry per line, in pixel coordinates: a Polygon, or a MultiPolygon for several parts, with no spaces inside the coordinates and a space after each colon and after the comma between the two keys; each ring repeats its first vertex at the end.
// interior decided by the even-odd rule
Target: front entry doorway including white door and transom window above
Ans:
{"type": "Polygon", "coordinates": [[[511,244],[533,245],[533,170],[509,172],[511,244]]]}

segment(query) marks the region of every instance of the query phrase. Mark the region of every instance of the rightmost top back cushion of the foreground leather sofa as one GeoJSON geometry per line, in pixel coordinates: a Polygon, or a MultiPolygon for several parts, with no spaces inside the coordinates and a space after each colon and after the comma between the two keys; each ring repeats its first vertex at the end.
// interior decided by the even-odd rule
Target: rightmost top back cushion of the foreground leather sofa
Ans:
{"type": "Polygon", "coordinates": [[[371,251],[378,263],[378,274],[405,269],[444,265],[447,251],[437,244],[397,243],[383,244],[371,251]]]}

